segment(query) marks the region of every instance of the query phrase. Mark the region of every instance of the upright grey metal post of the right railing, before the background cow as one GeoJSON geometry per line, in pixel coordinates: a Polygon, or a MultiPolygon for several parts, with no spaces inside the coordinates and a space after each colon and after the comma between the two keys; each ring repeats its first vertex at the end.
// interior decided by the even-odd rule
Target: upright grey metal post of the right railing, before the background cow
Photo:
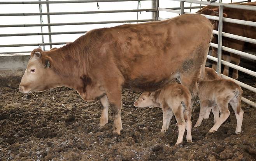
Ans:
{"type": "Polygon", "coordinates": [[[222,26],[223,26],[223,5],[219,6],[219,29],[218,29],[218,61],[217,74],[221,76],[221,48],[222,48],[222,26]]]}

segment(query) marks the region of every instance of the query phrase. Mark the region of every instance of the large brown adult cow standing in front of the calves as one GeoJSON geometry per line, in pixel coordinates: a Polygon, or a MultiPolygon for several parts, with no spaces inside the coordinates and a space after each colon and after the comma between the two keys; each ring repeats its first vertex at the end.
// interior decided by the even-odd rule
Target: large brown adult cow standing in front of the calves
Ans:
{"type": "Polygon", "coordinates": [[[72,87],[84,100],[100,100],[100,126],[110,107],[120,135],[122,88],[154,91],[179,75],[195,93],[211,38],[212,25],[199,14],[91,30],[59,49],[34,49],[19,90],[72,87]]]}

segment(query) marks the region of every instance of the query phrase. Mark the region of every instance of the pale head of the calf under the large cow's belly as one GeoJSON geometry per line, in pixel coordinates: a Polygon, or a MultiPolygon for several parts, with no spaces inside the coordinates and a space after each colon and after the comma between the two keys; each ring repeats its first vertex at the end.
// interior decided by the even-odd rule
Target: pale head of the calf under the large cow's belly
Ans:
{"type": "Polygon", "coordinates": [[[140,97],[133,103],[135,107],[149,107],[156,105],[154,92],[143,92],[140,97]]]}

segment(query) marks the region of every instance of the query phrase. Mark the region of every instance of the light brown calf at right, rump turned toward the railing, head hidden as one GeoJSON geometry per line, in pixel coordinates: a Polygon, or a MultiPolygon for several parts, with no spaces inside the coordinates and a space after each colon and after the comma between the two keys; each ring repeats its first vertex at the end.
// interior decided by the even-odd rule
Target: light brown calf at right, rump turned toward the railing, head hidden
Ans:
{"type": "Polygon", "coordinates": [[[203,80],[199,78],[197,83],[201,109],[198,121],[194,127],[200,126],[208,107],[216,106],[221,112],[221,115],[217,120],[215,120],[214,126],[209,132],[213,133],[214,131],[217,131],[221,124],[223,124],[230,115],[230,111],[228,110],[228,103],[230,103],[237,118],[237,128],[235,133],[241,133],[244,114],[244,111],[240,107],[242,95],[241,87],[232,80],[227,79],[203,80]]]}

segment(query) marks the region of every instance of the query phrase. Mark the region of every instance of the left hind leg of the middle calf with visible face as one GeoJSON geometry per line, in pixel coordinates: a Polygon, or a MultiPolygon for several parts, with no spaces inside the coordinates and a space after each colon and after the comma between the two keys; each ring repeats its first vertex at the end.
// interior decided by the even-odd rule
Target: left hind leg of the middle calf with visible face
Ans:
{"type": "Polygon", "coordinates": [[[177,142],[175,143],[175,145],[182,143],[183,136],[185,133],[186,122],[184,119],[184,111],[185,111],[185,109],[182,105],[179,105],[178,108],[173,109],[174,116],[175,116],[175,119],[177,121],[178,128],[179,128],[179,136],[178,136],[178,139],[177,139],[177,142]]]}

